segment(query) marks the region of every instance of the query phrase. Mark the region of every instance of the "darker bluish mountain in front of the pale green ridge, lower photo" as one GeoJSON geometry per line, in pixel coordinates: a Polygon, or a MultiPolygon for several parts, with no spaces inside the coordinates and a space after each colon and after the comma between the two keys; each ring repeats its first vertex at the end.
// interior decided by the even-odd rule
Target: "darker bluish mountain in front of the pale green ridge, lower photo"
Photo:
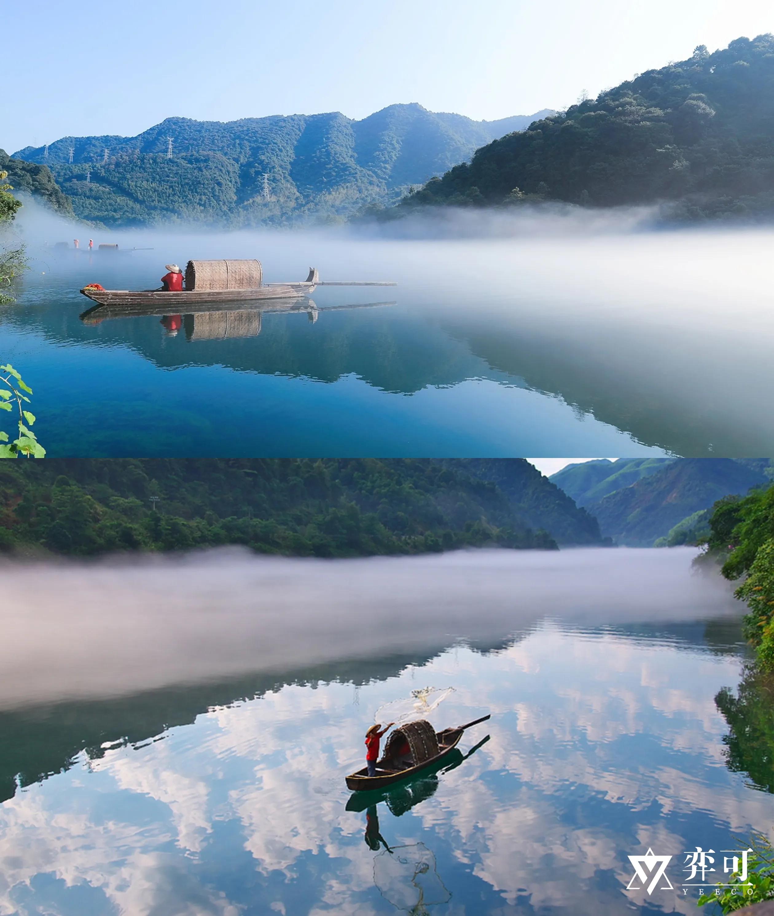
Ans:
{"type": "Polygon", "coordinates": [[[616,543],[650,547],[693,513],[768,483],[767,476],[731,458],[680,458],[587,509],[616,543]]]}

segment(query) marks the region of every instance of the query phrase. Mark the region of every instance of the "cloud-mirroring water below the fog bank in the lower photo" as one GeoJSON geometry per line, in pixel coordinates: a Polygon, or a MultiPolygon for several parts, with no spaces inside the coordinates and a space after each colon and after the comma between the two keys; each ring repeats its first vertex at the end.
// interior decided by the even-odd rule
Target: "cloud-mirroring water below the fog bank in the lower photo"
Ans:
{"type": "MultiPolygon", "coordinates": [[[[420,567],[391,569],[400,591],[420,567]]],[[[469,563],[472,586],[484,569],[469,563]]],[[[0,714],[0,913],[695,912],[693,892],[627,891],[627,856],[674,855],[677,887],[683,850],[771,828],[772,796],[729,769],[714,703],[742,674],[738,609],[710,619],[699,593],[659,594],[661,622],[638,623],[643,599],[619,594],[596,612],[618,623],[513,611],[514,631],[485,625],[474,648],[438,620],[431,651],[424,627],[413,650],[410,632],[387,653],[343,638],[335,660],[284,672],[16,702],[0,714]],[[437,725],[490,722],[447,769],[351,796],[365,728],[428,686],[453,687],[437,725]]],[[[469,616],[485,621],[494,593],[481,601],[469,616]]]]}

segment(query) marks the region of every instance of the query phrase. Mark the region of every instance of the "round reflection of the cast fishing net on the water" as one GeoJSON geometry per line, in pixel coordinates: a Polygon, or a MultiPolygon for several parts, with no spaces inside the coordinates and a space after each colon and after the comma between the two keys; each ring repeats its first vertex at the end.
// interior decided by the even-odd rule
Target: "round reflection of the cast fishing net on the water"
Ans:
{"type": "Polygon", "coordinates": [[[397,910],[414,916],[452,899],[438,877],[435,856],[424,843],[392,846],[375,856],[374,884],[397,910]]]}

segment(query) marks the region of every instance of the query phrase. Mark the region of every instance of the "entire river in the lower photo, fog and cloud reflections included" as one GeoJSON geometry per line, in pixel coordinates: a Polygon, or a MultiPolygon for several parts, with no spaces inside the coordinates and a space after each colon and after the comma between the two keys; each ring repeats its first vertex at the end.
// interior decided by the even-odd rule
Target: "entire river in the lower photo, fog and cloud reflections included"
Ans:
{"type": "Polygon", "coordinates": [[[769,831],[774,787],[744,608],[694,556],[5,562],[0,914],[696,912],[683,851],[769,831]],[[347,791],[425,688],[437,727],[492,717],[347,791]],[[674,889],[646,900],[648,846],[674,889]]]}

